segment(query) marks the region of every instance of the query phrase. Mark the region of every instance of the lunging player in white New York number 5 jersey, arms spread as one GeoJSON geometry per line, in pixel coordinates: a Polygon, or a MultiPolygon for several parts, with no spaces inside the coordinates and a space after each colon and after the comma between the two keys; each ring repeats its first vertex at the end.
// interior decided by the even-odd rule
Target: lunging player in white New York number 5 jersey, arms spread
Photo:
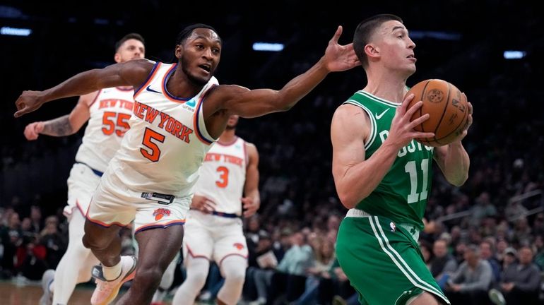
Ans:
{"type": "Polygon", "coordinates": [[[286,111],[328,73],[360,65],[353,44],[338,44],[341,33],[338,27],[317,64],[280,90],[212,84],[222,41],[211,26],[196,24],[179,33],[175,64],[127,61],[79,73],[45,91],[23,92],[16,101],[16,117],[62,97],[116,86],[136,88],[130,129],[86,215],[83,244],[101,262],[93,269],[97,288],[92,304],[108,304],[122,283],[133,277],[117,304],[150,303],[162,274],[182,246],[182,225],[199,168],[230,116],[250,118],[286,111]],[[119,229],[133,220],[137,264],[134,258],[119,255],[119,229]]]}

